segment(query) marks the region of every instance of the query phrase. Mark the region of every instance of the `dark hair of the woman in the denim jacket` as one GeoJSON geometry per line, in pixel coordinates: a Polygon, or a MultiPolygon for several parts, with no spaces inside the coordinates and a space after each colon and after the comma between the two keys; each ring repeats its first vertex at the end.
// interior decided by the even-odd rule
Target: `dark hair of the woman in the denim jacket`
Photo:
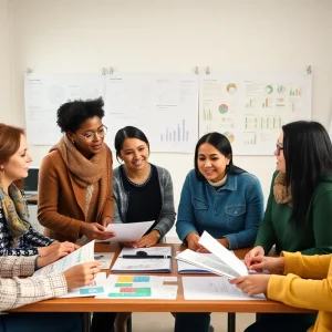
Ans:
{"type": "Polygon", "coordinates": [[[229,158],[229,165],[226,168],[227,174],[241,174],[246,170],[242,168],[239,168],[232,164],[232,149],[231,145],[226,136],[224,136],[220,133],[214,132],[206,134],[199,138],[199,141],[196,144],[195,148],[195,159],[194,159],[194,166],[195,166],[195,173],[198,180],[204,180],[205,177],[200,174],[198,169],[198,148],[201,144],[208,143],[212,145],[216,149],[218,149],[225,157],[229,158]]]}

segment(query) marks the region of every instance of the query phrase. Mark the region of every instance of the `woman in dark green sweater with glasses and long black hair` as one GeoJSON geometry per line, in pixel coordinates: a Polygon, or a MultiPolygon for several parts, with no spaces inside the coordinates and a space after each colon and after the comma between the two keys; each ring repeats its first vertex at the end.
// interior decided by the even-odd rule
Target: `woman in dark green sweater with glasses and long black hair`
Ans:
{"type": "MultiPolygon", "coordinates": [[[[255,248],[245,258],[248,268],[274,245],[277,253],[332,252],[332,145],[329,134],[317,122],[287,124],[282,126],[274,155],[277,172],[255,248]]],[[[289,292],[293,292],[291,288],[289,292]]],[[[268,291],[268,297],[276,294],[268,291]]],[[[307,331],[314,318],[260,314],[260,320],[246,331],[307,331]]]]}

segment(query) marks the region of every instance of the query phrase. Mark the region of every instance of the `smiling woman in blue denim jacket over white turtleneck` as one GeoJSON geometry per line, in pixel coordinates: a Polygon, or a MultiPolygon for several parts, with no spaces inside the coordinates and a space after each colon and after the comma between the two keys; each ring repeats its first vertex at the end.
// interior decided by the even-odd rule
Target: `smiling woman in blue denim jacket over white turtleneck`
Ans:
{"type": "MultiPolygon", "coordinates": [[[[208,231],[228,249],[253,245],[263,216],[263,195],[256,176],[232,164],[226,136],[204,135],[195,149],[195,169],[186,177],[176,231],[189,249],[207,250],[198,243],[208,231]]],[[[177,313],[175,332],[208,331],[209,313],[177,313]]]]}

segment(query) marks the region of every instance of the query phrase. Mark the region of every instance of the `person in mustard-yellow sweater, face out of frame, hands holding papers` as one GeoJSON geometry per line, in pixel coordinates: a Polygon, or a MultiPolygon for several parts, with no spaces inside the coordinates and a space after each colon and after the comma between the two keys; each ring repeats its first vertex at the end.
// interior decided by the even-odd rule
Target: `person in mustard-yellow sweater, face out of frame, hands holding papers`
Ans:
{"type": "Polygon", "coordinates": [[[230,283],[236,284],[248,295],[266,293],[267,298],[283,302],[288,305],[318,310],[314,325],[283,326],[258,321],[250,325],[247,332],[260,331],[332,331],[332,255],[303,256],[300,252],[286,252],[281,257],[252,257],[250,269],[256,271],[269,270],[277,274],[253,274],[238,277],[230,283]],[[286,276],[278,276],[283,273],[286,276]],[[301,279],[311,278],[311,279],[301,279]]]}

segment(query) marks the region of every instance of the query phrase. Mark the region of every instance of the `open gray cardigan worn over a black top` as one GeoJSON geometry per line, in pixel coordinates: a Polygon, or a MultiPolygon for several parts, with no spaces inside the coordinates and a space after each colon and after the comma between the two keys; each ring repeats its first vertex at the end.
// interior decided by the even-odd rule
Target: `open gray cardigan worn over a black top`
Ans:
{"type": "MultiPolygon", "coordinates": [[[[113,197],[114,197],[114,216],[113,222],[126,222],[128,210],[128,193],[125,191],[120,167],[113,169],[113,197]]],[[[175,221],[173,183],[170,174],[167,169],[156,166],[160,193],[162,193],[162,210],[159,218],[154,227],[160,234],[160,239],[168,232],[175,221]]],[[[148,199],[148,197],[146,198],[148,199]]]]}

